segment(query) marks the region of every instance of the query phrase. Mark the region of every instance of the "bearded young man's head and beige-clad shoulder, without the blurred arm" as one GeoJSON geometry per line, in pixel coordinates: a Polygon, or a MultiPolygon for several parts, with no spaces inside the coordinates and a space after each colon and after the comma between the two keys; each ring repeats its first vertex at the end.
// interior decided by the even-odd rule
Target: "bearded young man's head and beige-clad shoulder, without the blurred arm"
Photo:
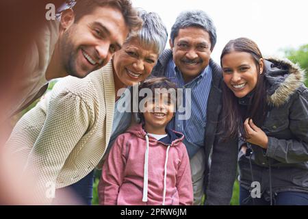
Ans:
{"type": "Polygon", "coordinates": [[[129,0],[77,1],[59,20],[45,21],[23,58],[23,71],[18,76],[22,79],[16,80],[16,92],[12,92],[18,96],[1,109],[1,120],[42,96],[51,79],[86,77],[105,66],[129,32],[140,27],[129,0]]]}

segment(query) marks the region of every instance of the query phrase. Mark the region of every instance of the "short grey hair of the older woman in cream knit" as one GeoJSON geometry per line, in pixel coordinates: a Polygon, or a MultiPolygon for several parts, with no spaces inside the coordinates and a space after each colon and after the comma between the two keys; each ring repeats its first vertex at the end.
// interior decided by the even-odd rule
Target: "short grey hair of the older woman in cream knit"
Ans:
{"type": "Polygon", "coordinates": [[[153,48],[158,55],[162,54],[166,47],[168,31],[162,18],[155,12],[146,12],[138,8],[138,16],[142,19],[143,25],[136,34],[131,34],[126,42],[132,38],[138,38],[141,44],[153,48]]]}

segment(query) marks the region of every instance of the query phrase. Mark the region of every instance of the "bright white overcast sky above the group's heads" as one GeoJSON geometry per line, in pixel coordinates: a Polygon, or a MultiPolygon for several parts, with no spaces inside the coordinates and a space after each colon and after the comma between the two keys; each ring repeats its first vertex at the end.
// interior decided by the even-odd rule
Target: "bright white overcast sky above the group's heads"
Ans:
{"type": "MultiPolygon", "coordinates": [[[[281,55],[281,49],[308,44],[308,1],[306,0],[131,0],[133,6],[162,17],[170,29],[179,12],[201,9],[207,12],[217,29],[212,57],[231,39],[248,37],[257,42],[266,55],[281,55]]],[[[168,46],[169,47],[169,46],[168,46]]]]}

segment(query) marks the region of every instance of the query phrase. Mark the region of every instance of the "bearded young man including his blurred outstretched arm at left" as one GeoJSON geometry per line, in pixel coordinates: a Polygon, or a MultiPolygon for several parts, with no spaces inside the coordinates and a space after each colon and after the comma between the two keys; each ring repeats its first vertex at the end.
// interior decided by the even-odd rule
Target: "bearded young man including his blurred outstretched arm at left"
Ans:
{"type": "MultiPolygon", "coordinates": [[[[73,1],[69,1],[72,3],[73,1]]],[[[21,181],[20,160],[3,153],[10,117],[38,99],[51,79],[85,77],[119,50],[129,32],[141,27],[129,0],[82,0],[47,21],[45,6],[64,0],[1,1],[0,203],[38,204],[29,177],[21,181]],[[31,12],[31,13],[29,13],[31,12]]]]}

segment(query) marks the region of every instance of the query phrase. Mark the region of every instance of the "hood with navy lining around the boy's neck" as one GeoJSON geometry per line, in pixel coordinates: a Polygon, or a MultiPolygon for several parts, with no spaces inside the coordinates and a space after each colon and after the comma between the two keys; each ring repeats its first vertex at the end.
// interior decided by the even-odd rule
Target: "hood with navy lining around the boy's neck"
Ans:
{"type": "MultiPolygon", "coordinates": [[[[142,123],[133,125],[130,127],[127,131],[127,133],[132,133],[133,135],[137,136],[138,138],[144,139],[146,136],[146,131],[144,131],[142,127],[142,123]]],[[[161,142],[162,144],[165,144],[166,146],[177,146],[180,142],[183,141],[184,135],[182,133],[179,133],[177,131],[173,131],[166,128],[166,133],[168,136],[165,138],[160,139],[158,142],[161,142]]],[[[149,142],[156,142],[157,140],[151,136],[149,136],[149,142]]]]}

